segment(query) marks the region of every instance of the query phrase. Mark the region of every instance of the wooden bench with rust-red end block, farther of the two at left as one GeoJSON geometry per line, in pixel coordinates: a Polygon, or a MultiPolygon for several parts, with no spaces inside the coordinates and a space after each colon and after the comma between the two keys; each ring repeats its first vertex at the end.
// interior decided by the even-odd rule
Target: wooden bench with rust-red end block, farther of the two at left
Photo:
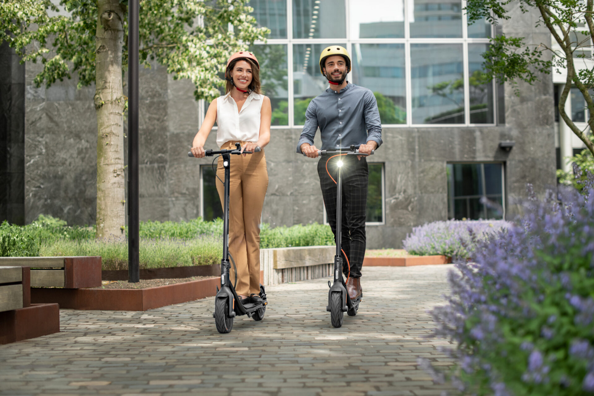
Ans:
{"type": "Polygon", "coordinates": [[[101,257],[0,257],[0,267],[30,267],[31,287],[101,286],[101,257]]]}

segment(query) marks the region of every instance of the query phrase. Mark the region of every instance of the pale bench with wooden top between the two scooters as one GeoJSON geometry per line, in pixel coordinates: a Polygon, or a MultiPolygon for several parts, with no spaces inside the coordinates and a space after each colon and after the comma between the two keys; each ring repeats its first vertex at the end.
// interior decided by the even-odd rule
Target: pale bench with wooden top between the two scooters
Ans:
{"type": "Polygon", "coordinates": [[[263,284],[280,284],[332,275],[336,246],[260,249],[263,284]]]}

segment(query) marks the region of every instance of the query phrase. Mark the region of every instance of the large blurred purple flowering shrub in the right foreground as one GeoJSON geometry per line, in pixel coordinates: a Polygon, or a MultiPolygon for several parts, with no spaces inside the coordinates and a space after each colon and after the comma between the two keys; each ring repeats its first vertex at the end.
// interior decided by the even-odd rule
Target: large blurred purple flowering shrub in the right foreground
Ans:
{"type": "MultiPolygon", "coordinates": [[[[594,189],[525,202],[523,217],[459,261],[431,312],[464,394],[594,394],[594,189]],[[592,198],[590,198],[592,197],[592,198]],[[560,203],[561,202],[561,203],[560,203]]],[[[427,363],[427,362],[425,362],[427,363]]]]}

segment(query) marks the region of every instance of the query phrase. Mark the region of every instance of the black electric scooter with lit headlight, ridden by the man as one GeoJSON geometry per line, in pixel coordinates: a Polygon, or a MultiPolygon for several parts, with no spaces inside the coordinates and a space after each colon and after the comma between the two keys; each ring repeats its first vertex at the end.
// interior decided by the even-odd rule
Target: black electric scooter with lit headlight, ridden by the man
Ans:
{"type": "MultiPolygon", "coordinates": [[[[374,150],[371,150],[371,154],[374,153],[374,150]]],[[[368,156],[370,154],[362,154],[359,153],[359,146],[350,145],[349,148],[339,148],[338,150],[318,150],[318,156],[320,157],[328,157],[326,161],[326,169],[328,169],[328,161],[331,158],[337,156],[346,156],[346,155],[355,155],[355,156],[368,156]]],[[[304,154],[305,156],[305,154],[304,154]]],[[[342,251],[341,245],[341,238],[342,238],[342,161],[339,159],[337,161],[338,167],[338,177],[337,180],[334,180],[330,175],[330,178],[334,180],[336,183],[336,255],[334,255],[334,283],[330,284],[328,281],[328,286],[330,290],[328,291],[328,305],[326,306],[326,311],[330,312],[330,321],[334,327],[341,327],[343,322],[344,313],[346,312],[349,316],[355,316],[359,309],[359,303],[361,303],[361,298],[363,297],[363,293],[355,300],[351,300],[349,293],[346,291],[346,282],[342,276],[342,251]]],[[[347,265],[349,265],[349,274],[350,274],[350,264],[349,258],[346,257],[347,265]]],[[[348,280],[348,276],[347,276],[348,280]]]]}

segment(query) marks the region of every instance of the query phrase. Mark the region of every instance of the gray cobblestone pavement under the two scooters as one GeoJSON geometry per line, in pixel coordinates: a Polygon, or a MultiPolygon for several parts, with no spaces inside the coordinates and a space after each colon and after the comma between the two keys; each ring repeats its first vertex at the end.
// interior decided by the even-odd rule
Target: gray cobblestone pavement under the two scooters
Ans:
{"type": "Polygon", "coordinates": [[[214,297],[146,312],[60,311],[61,332],[0,346],[0,394],[435,395],[417,365],[451,265],[365,267],[359,312],[333,328],[328,279],[267,287],[264,320],[214,327],[214,297]]]}

